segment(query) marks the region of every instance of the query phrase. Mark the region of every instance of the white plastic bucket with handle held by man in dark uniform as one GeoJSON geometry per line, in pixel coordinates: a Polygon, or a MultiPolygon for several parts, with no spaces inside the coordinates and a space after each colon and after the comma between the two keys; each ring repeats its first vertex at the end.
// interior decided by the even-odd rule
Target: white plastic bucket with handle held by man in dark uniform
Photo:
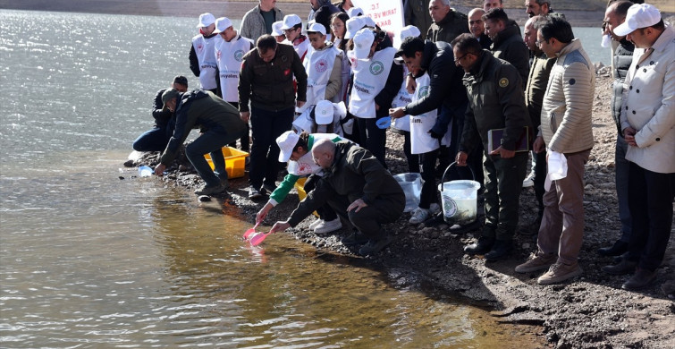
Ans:
{"type": "MultiPolygon", "coordinates": [[[[443,220],[450,225],[466,226],[477,219],[477,201],[480,183],[470,180],[444,182],[445,174],[455,163],[451,163],[443,172],[438,191],[443,203],[443,220]]],[[[470,167],[469,167],[470,169],[470,167]]],[[[474,179],[476,175],[471,170],[474,179]]]]}

